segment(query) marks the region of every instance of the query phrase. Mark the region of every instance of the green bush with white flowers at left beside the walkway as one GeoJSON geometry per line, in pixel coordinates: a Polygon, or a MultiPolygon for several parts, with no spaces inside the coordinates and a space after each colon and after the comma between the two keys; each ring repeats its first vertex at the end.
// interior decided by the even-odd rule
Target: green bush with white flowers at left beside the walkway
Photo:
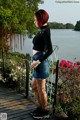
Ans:
{"type": "Polygon", "coordinates": [[[25,91],[26,82],[26,56],[18,52],[7,53],[4,55],[4,73],[2,60],[0,59],[0,72],[3,76],[5,85],[17,90],[25,91]]]}

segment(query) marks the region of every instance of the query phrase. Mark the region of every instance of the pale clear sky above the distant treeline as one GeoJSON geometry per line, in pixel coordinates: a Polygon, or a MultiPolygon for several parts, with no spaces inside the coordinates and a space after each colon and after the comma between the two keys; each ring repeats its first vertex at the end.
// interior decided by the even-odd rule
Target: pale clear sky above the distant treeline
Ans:
{"type": "Polygon", "coordinates": [[[43,0],[39,9],[49,13],[49,22],[76,24],[80,20],[80,0],[43,0]]]}

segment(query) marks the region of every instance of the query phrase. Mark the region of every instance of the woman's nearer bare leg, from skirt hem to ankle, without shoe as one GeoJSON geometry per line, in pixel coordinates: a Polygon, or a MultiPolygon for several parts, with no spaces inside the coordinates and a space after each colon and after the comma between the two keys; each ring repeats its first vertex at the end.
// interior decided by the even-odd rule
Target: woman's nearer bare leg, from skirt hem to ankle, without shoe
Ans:
{"type": "Polygon", "coordinates": [[[38,93],[39,93],[39,101],[42,109],[47,109],[47,93],[46,93],[46,79],[36,80],[38,93]]]}

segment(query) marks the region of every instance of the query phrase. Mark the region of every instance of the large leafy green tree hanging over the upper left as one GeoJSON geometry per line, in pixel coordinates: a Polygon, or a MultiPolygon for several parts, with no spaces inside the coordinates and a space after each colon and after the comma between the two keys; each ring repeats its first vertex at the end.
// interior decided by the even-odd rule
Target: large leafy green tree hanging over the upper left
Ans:
{"type": "Polygon", "coordinates": [[[8,49],[7,40],[13,33],[35,32],[34,12],[42,0],[0,0],[0,43],[8,49]]]}

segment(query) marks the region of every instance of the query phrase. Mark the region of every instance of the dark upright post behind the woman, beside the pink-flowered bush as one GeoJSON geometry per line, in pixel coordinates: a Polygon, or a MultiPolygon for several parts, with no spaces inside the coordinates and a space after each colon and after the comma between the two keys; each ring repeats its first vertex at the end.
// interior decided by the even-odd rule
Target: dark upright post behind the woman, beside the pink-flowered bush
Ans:
{"type": "Polygon", "coordinates": [[[57,63],[56,63],[56,78],[55,78],[55,90],[54,90],[54,102],[53,102],[53,114],[55,112],[55,105],[56,105],[56,102],[57,102],[57,98],[56,98],[56,95],[57,95],[57,83],[58,83],[58,71],[59,71],[59,68],[58,68],[58,65],[59,65],[59,60],[57,60],[57,63]]]}

